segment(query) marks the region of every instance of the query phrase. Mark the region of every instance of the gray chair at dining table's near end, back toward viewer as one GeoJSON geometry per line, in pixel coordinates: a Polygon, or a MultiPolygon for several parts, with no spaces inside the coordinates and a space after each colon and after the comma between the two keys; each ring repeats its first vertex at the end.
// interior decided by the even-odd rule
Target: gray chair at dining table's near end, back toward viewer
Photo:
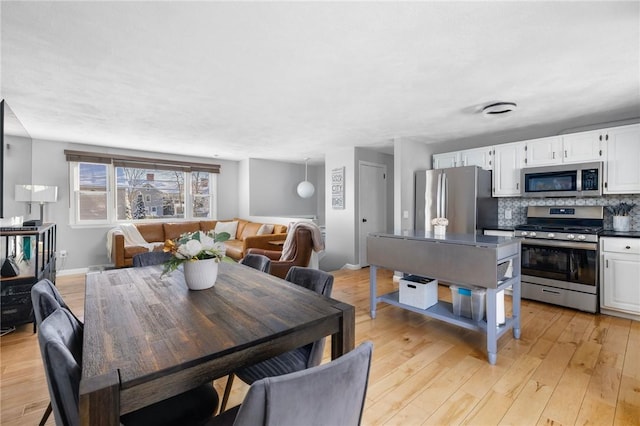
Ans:
{"type": "Polygon", "coordinates": [[[209,426],[356,426],[362,420],[373,345],[327,364],[254,382],[242,405],[209,426]]]}

